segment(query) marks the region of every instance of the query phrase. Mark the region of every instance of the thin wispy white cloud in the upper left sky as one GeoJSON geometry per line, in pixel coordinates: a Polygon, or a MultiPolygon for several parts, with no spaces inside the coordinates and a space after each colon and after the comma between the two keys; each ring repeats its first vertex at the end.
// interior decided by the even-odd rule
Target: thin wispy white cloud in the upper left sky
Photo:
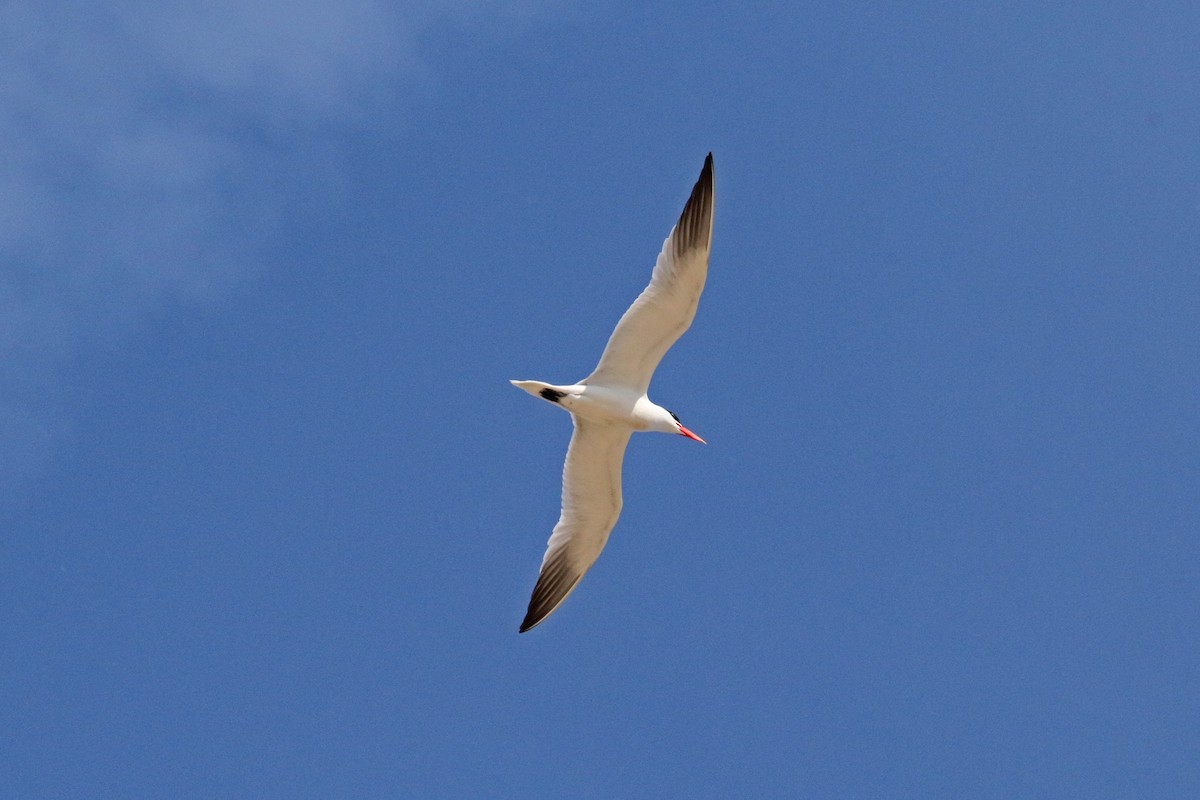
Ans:
{"type": "MultiPolygon", "coordinates": [[[[6,2],[0,11],[0,498],[50,461],[61,369],[259,269],[281,152],[368,120],[468,0],[6,2]],[[247,136],[247,132],[251,134],[247,136]]],[[[287,158],[287,156],[282,156],[287,158]]]]}

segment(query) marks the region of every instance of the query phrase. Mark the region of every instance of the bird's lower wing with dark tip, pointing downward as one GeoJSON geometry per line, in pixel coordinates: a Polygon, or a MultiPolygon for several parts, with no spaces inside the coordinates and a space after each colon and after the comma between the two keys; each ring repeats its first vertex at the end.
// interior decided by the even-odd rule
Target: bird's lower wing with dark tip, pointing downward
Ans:
{"type": "Polygon", "coordinates": [[[546,543],[521,632],[546,619],[595,564],[620,516],[620,465],[632,429],[575,414],[563,465],[563,512],[546,543]]]}

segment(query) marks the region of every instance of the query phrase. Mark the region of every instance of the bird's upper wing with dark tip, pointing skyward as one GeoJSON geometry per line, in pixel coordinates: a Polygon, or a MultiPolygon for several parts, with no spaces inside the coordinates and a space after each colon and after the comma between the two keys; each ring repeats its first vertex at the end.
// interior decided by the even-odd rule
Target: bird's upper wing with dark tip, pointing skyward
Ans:
{"type": "Polygon", "coordinates": [[[646,392],[664,354],[696,315],[712,241],[713,154],[708,154],[679,222],[662,242],[649,285],[617,323],[595,372],[582,383],[646,392]]]}

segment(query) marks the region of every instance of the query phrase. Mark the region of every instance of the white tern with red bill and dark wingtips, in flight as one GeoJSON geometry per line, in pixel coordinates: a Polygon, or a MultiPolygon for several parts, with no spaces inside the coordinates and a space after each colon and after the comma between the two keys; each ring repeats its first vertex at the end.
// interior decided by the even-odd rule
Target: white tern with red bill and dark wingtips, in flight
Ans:
{"type": "Polygon", "coordinates": [[[620,464],[634,431],[704,440],[646,390],[662,355],[696,315],[713,240],[713,154],[704,158],[679,222],[662,242],[650,283],[617,323],[595,371],[577,384],[514,380],[514,386],[565,408],[575,433],[563,465],[563,511],[546,543],[521,632],[541,622],[595,564],[620,516],[620,464]]]}

